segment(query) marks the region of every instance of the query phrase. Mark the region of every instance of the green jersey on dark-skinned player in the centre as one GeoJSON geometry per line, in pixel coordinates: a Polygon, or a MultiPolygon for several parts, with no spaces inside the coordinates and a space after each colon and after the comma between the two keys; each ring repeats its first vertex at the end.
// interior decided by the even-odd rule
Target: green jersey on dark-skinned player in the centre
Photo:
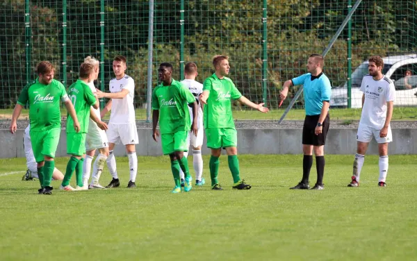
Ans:
{"type": "Polygon", "coordinates": [[[159,110],[161,134],[189,131],[191,129],[188,104],[195,102],[186,85],[172,79],[171,85],[156,86],[152,93],[152,110],[159,110]]]}

